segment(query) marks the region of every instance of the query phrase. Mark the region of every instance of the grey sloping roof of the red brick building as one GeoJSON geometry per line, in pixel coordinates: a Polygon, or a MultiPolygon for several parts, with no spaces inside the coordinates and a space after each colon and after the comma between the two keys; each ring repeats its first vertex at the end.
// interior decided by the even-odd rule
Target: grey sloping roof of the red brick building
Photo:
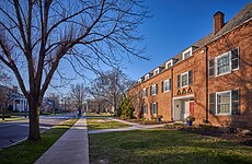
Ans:
{"type": "MultiPolygon", "coordinates": [[[[252,2],[249,2],[234,17],[232,17],[229,22],[227,22],[216,34],[213,32],[209,35],[206,35],[202,39],[197,40],[196,43],[194,43],[190,47],[194,47],[194,50],[199,48],[199,47],[203,47],[203,46],[209,44],[210,42],[215,40],[216,38],[220,37],[221,35],[228,33],[229,31],[232,31],[237,26],[251,20],[251,17],[252,17],[252,2]]],[[[188,49],[190,47],[185,48],[184,50],[188,49]]],[[[175,55],[172,58],[172,59],[175,59],[174,65],[182,60],[182,54],[184,50],[182,50],[180,54],[175,55]]],[[[171,59],[169,59],[169,60],[171,60],[171,59]]],[[[169,60],[167,60],[165,62],[168,62],[169,60]]],[[[163,67],[165,65],[165,62],[163,62],[162,65],[160,65],[158,67],[163,67]]],[[[154,69],[152,69],[148,73],[152,73],[152,71],[154,69]]],[[[148,73],[146,73],[146,74],[148,74],[148,73]]]]}

